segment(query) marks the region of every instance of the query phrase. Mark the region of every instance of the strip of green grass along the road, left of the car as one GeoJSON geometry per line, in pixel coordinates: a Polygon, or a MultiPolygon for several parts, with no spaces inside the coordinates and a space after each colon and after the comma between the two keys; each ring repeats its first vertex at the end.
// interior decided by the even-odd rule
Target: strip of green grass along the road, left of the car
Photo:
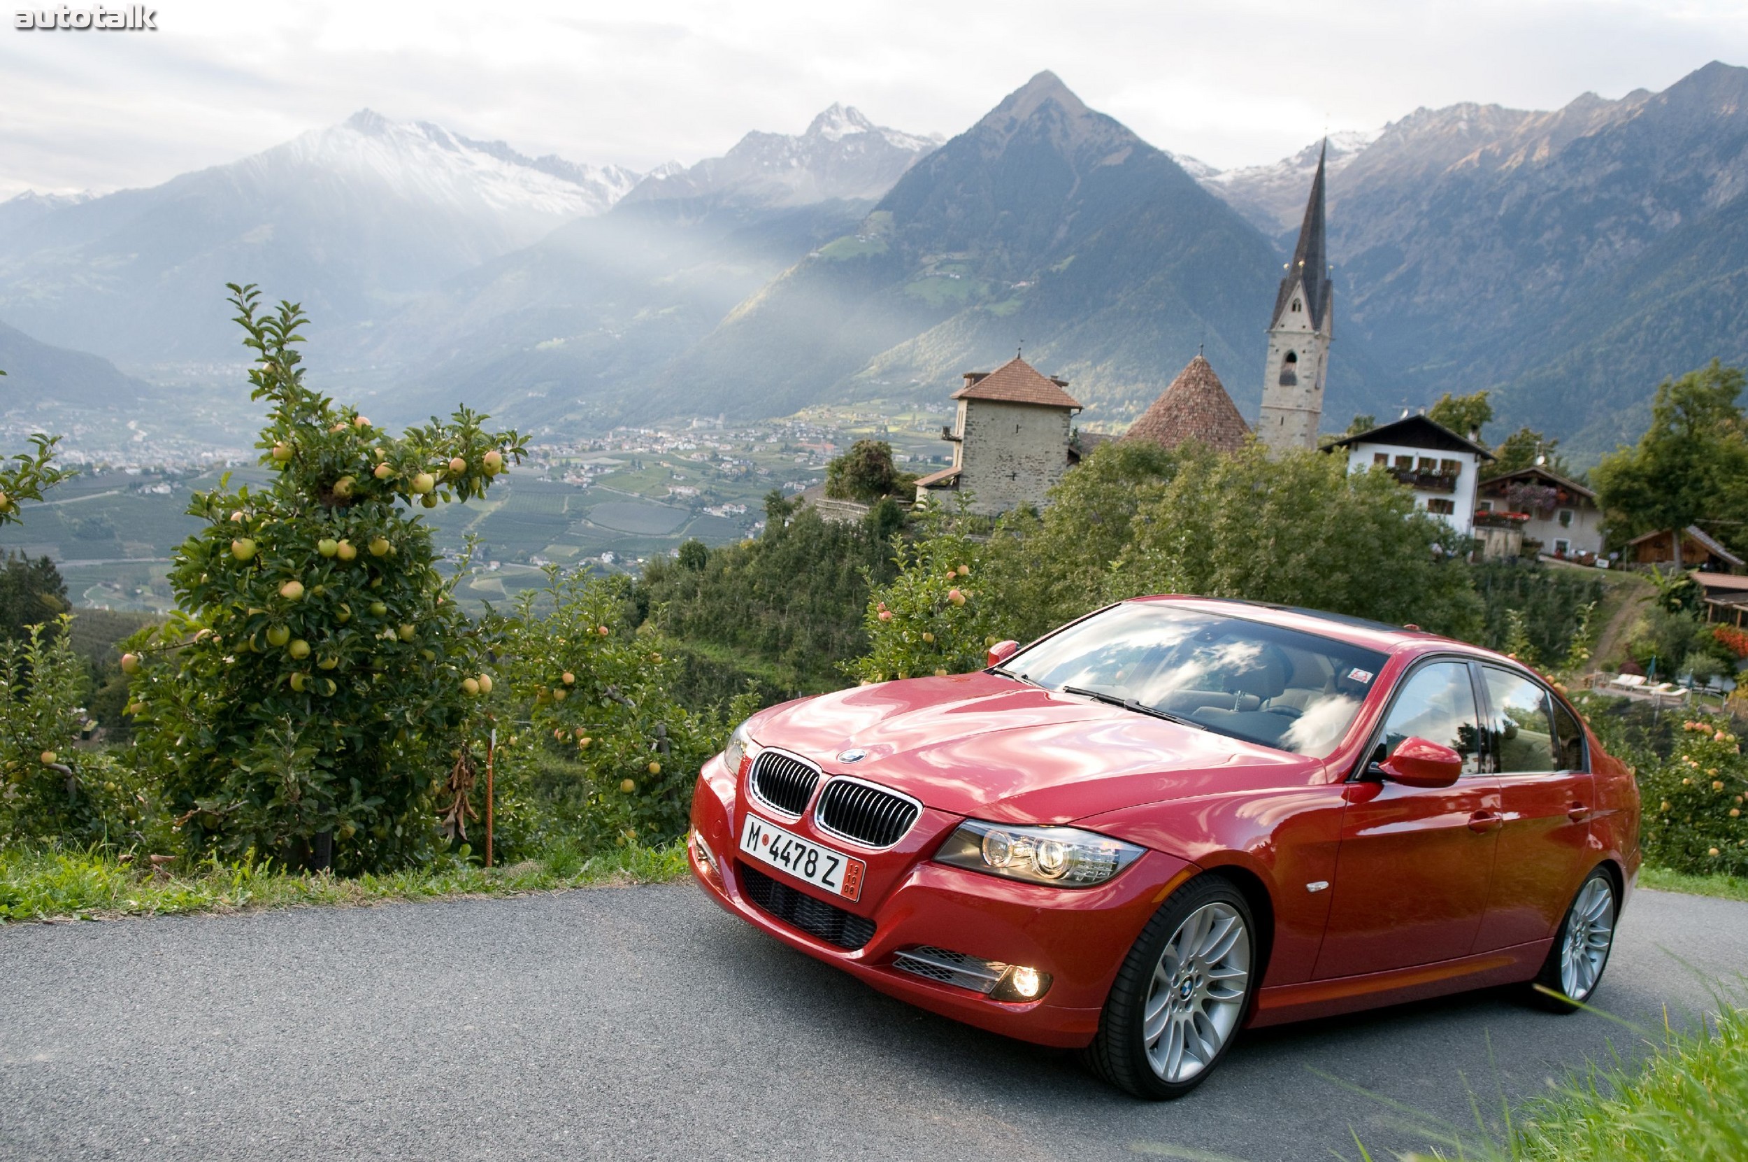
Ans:
{"type": "Polygon", "coordinates": [[[683,875],[685,866],[683,842],[622,847],[596,856],[556,849],[544,859],[491,870],[447,859],[428,868],[357,878],[288,873],[271,863],[252,861],[208,861],[191,872],[166,875],[135,868],[114,852],[16,849],[0,852],[0,924],[516,896],[596,884],[654,884],[683,875]]]}

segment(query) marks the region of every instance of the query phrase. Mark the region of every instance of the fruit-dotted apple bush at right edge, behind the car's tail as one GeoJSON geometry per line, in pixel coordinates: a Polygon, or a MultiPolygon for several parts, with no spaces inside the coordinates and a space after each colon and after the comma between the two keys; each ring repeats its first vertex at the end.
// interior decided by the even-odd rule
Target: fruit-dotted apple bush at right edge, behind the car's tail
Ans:
{"type": "Polygon", "coordinates": [[[1668,760],[1638,766],[1645,859],[1692,873],[1748,875],[1748,761],[1729,718],[1682,723],[1668,760]]]}

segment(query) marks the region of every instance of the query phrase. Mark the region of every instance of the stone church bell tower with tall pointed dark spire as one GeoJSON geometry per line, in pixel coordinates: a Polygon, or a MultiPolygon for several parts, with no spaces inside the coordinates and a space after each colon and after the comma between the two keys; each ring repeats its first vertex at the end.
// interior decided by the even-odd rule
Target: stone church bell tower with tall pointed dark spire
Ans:
{"type": "Polygon", "coordinates": [[[1274,322],[1269,324],[1269,359],[1262,373],[1262,415],[1257,436],[1271,452],[1316,448],[1316,429],[1323,418],[1323,374],[1328,369],[1334,289],[1328,280],[1328,252],[1323,248],[1323,158],[1311,178],[1306,220],[1299,228],[1294,261],[1287,264],[1280,294],[1274,296],[1274,322]]]}

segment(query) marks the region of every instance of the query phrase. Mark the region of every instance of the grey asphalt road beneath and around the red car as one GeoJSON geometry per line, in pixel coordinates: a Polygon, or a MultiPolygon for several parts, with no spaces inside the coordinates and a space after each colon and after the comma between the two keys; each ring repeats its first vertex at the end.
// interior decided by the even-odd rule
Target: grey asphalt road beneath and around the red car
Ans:
{"type": "MultiPolygon", "coordinates": [[[[1743,968],[1748,905],[1640,892],[1598,1003],[1661,1024],[1743,968]]],[[[1346,1087],[1468,1120],[1470,1090],[1496,1110],[1610,1040],[1634,1034],[1470,994],[1250,1034],[1145,1104],[690,884],[31,924],[0,929],[0,1157],[1260,1162],[1353,1157],[1353,1129],[1390,1157],[1421,1139],[1346,1087]]]]}

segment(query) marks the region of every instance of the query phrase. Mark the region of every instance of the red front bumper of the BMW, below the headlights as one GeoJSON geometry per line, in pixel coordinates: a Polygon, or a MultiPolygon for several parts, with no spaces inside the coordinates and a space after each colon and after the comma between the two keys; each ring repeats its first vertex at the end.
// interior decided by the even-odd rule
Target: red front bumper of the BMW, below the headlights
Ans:
{"type": "Polygon", "coordinates": [[[781,868],[762,861],[752,864],[780,884],[871,919],[874,936],[860,948],[846,950],[792,928],[741,891],[736,840],[746,810],[734,772],[724,766],[720,756],[710,760],[692,794],[689,858],[692,875],[718,905],[881,992],[1038,1045],[1077,1048],[1092,1040],[1117,968],[1164,892],[1190,868],[1182,859],[1150,850],[1108,884],[1061,889],[932,863],[928,856],[958,826],[956,817],[940,812],[925,810],[905,842],[888,852],[855,850],[843,840],[815,833],[811,819],[771,819],[837,850],[855,850],[867,861],[865,889],[857,903],[832,898],[781,868]],[[699,838],[713,859],[701,858],[699,838]],[[1035,1001],[998,1001],[893,968],[895,954],[918,945],[1026,964],[1049,973],[1052,984],[1035,1001]]]}

